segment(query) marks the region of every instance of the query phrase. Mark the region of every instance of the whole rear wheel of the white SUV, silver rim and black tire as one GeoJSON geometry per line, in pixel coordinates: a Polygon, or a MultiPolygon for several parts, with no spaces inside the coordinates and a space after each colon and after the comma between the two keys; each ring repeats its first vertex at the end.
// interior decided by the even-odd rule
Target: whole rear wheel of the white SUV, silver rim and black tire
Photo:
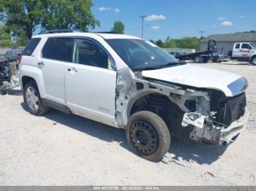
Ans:
{"type": "Polygon", "coordinates": [[[23,98],[31,114],[39,116],[48,112],[48,107],[42,105],[36,82],[26,83],[23,90],[23,98]]]}

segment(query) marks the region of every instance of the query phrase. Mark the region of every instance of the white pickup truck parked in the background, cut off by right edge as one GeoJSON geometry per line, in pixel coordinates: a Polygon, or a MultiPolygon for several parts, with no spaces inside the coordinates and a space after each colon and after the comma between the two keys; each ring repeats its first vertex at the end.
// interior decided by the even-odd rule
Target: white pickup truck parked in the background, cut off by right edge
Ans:
{"type": "Polygon", "coordinates": [[[244,61],[256,65],[256,45],[252,42],[235,43],[231,60],[244,61]]]}

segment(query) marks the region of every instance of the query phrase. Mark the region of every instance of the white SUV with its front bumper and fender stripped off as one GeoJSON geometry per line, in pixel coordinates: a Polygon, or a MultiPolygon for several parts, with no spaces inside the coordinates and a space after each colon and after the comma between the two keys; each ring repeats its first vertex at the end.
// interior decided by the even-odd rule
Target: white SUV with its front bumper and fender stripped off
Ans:
{"type": "Polygon", "coordinates": [[[222,144],[244,130],[244,77],[181,63],[135,36],[64,32],[33,36],[23,52],[31,114],[53,108],[125,128],[147,160],[165,155],[170,134],[222,144]]]}

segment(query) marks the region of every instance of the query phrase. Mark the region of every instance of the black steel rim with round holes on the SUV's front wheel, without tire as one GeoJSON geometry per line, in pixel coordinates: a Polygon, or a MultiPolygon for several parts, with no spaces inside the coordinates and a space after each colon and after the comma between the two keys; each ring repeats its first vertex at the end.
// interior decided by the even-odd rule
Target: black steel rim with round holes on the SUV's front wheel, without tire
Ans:
{"type": "Polygon", "coordinates": [[[143,155],[150,155],[157,149],[158,136],[151,124],[143,120],[135,121],[129,131],[132,145],[143,155]]]}

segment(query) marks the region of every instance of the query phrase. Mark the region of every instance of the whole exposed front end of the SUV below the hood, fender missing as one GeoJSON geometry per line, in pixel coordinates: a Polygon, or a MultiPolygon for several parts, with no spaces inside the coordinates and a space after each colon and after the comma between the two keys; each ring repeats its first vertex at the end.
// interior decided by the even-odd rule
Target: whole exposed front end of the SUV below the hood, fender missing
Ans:
{"type": "Polygon", "coordinates": [[[140,72],[132,76],[127,69],[118,73],[117,84],[119,128],[125,128],[129,117],[139,111],[158,114],[174,136],[189,133],[193,141],[213,144],[233,141],[246,127],[246,87],[228,97],[220,90],[151,79],[140,72]]]}

